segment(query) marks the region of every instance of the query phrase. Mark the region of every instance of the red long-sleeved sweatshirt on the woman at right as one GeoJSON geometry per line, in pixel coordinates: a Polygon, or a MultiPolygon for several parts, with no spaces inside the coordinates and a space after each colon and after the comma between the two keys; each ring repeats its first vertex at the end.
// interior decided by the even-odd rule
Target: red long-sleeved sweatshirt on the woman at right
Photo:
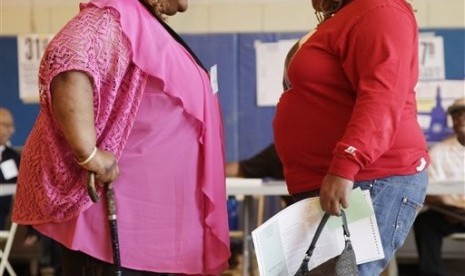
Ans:
{"type": "Polygon", "coordinates": [[[353,0],[318,26],[288,68],[273,122],[291,194],[327,173],[408,175],[429,162],[417,122],[418,27],[404,0],[353,0]]]}

